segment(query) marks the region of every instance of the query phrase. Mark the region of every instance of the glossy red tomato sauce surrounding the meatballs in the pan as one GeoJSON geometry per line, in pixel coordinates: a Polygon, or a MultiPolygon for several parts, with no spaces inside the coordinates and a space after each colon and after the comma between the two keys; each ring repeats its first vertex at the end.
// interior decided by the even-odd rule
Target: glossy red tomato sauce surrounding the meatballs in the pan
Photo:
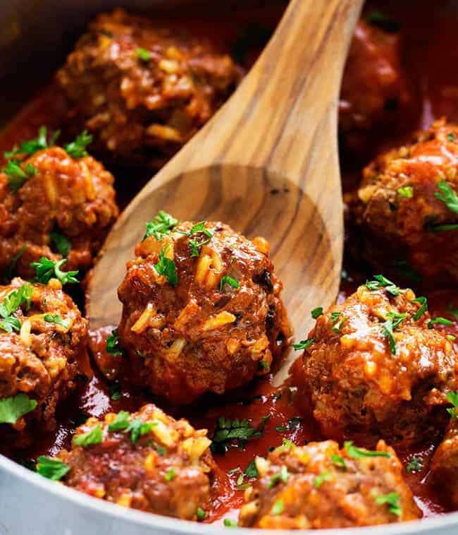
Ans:
{"type": "MultiPolygon", "coordinates": [[[[279,2],[276,7],[269,5],[266,9],[262,6],[257,11],[243,11],[243,14],[237,11],[230,23],[228,18],[210,20],[206,16],[204,19],[202,17],[196,17],[194,20],[187,19],[185,24],[188,28],[189,25],[200,28],[207,37],[214,37],[223,46],[231,48],[234,46],[242,25],[250,28],[250,24],[256,23],[258,28],[264,28],[265,40],[268,35],[266,28],[274,27],[283,5],[284,2],[279,2]]],[[[361,168],[371,160],[373,154],[389,146],[399,145],[406,139],[407,132],[429,126],[433,119],[442,115],[446,115],[451,121],[458,121],[458,70],[454,68],[454,65],[458,64],[456,45],[458,11],[454,13],[447,11],[445,6],[431,8],[431,3],[426,1],[400,3],[388,0],[373,3],[371,6],[383,8],[392,18],[400,22],[404,64],[407,66],[409,78],[415,88],[417,113],[413,122],[407,125],[408,128],[403,125],[397,131],[383,132],[383,135],[378,135],[377,139],[374,136],[371,149],[364,152],[361,157],[342,155],[345,191],[354,188],[359,180],[361,168]]],[[[176,23],[175,19],[174,23],[176,23]]],[[[259,44],[255,42],[252,49],[245,54],[246,66],[254,61],[260,49],[259,44]]],[[[48,85],[23,108],[23,111],[11,121],[3,133],[0,133],[0,152],[9,150],[20,140],[35,137],[37,128],[42,124],[46,124],[50,129],[58,128],[65,112],[65,103],[56,96],[54,86],[48,85]]],[[[151,174],[147,169],[137,169],[135,173],[139,179],[132,188],[131,180],[123,180],[125,172],[132,174],[132,170],[111,170],[118,179],[118,202],[121,207],[128,203],[128,200],[151,174]]],[[[352,236],[347,236],[347,241],[349,239],[351,240],[352,236]]],[[[351,294],[358,284],[364,282],[370,275],[371,273],[364,267],[355,265],[346,253],[339,301],[351,294]]],[[[417,293],[423,294],[415,285],[414,289],[417,293]]],[[[426,296],[431,315],[440,315],[454,322],[453,325],[447,327],[439,325],[438,328],[457,335],[455,345],[458,349],[458,314],[453,313],[453,309],[458,309],[458,290],[428,291],[426,296]]],[[[316,304],[309,303],[309,306],[314,308],[316,304]]],[[[304,313],[308,312],[304,311],[304,313]]],[[[110,332],[111,327],[106,327],[100,332],[92,332],[89,348],[95,361],[104,363],[104,367],[109,366],[113,361],[104,349],[106,336],[110,332]]],[[[301,334],[297,333],[298,336],[301,334]]],[[[114,363],[114,368],[116,368],[116,363],[114,363]]],[[[213,435],[218,418],[221,416],[226,419],[247,419],[253,428],[258,430],[262,428],[261,436],[248,440],[241,447],[229,447],[225,455],[215,455],[218,464],[213,486],[215,499],[213,510],[209,512],[207,521],[221,522],[223,517],[235,518],[237,516],[237,508],[242,505],[243,487],[250,481],[247,476],[242,477],[242,474],[256,455],[266,455],[269,448],[280,445],[284,438],[298,445],[310,440],[323,439],[309,409],[301,405],[300,390],[300,363],[296,362],[292,366],[290,378],[280,387],[273,385],[273,376],[269,375],[225,397],[209,395],[191,407],[177,409],[169,407],[161,400],[154,399],[147,391],[132,389],[127,383],[118,384],[116,381],[110,383],[102,378],[99,372],[95,372],[91,380],[80,385],[65,407],[61,407],[58,414],[58,428],[54,435],[37,437],[34,447],[20,454],[8,451],[4,453],[20,462],[36,459],[38,455],[53,455],[61,447],[69,445],[73,429],[87,416],[103,416],[108,411],[120,409],[134,411],[143,403],[151,401],[158,402],[161,408],[175,417],[186,417],[192,425],[209,429],[210,436],[213,435]]],[[[440,498],[432,486],[428,485],[428,460],[434,448],[435,444],[423,444],[415,450],[398,451],[404,466],[411,457],[419,457],[422,460],[423,468],[418,473],[407,474],[406,472],[404,475],[425,517],[447,511],[440,503],[440,498]]]]}

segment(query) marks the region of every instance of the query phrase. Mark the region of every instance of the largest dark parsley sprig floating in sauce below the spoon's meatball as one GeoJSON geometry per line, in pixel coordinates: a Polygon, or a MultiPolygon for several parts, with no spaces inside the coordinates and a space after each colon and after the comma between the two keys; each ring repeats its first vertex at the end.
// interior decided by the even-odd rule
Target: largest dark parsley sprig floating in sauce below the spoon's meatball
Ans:
{"type": "Polygon", "coordinates": [[[254,428],[248,420],[225,419],[224,416],[218,418],[215,433],[213,434],[211,451],[213,453],[224,454],[230,447],[244,447],[248,440],[259,438],[264,432],[266,421],[270,415],[263,416],[259,428],[254,428]]]}

